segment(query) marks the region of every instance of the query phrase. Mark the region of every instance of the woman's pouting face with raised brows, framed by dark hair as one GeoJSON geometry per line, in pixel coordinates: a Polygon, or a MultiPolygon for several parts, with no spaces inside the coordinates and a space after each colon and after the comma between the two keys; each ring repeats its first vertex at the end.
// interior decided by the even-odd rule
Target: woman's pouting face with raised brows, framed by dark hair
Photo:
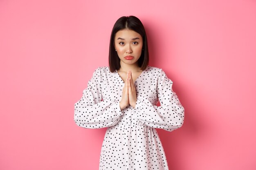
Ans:
{"type": "Polygon", "coordinates": [[[142,45],[142,37],[135,31],[123,29],[117,31],[115,35],[115,49],[117,49],[117,55],[122,64],[137,64],[142,45]]]}

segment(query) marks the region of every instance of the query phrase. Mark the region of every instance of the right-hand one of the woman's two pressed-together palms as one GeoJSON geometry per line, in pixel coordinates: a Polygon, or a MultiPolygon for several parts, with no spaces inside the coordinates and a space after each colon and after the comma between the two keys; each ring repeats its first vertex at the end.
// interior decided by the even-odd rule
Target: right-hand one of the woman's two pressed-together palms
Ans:
{"type": "Polygon", "coordinates": [[[134,86],[134,82],[132,79],[132,72],[128,71],[129,79],[128,79],[128,94],[129,94],[129,103],[135,108],[137,102],[136,88],[134,86]]]}

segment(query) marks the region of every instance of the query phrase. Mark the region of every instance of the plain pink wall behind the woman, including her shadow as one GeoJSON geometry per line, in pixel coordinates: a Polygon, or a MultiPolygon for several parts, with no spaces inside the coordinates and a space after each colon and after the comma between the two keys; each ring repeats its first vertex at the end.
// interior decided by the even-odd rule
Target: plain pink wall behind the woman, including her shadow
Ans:
{"type": "Polygon", "coordinates": [[[0,1],[0,170],[97,170],[106,129],[74,103],[124,15],[173,80],[182,128],[158,130],[170,170],[256,169],[256,1],[0,1]]]}

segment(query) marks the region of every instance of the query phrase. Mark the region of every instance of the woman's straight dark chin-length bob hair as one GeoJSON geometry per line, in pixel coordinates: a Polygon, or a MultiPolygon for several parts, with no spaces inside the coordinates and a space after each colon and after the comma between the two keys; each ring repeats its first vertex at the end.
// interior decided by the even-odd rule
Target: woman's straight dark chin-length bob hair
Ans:
{"type": "Polygon", "coordinates": [[[139,20],[139,18],[135,16],[124,16],[117,20],[115,23],[111,37],[110,37],[110,44],[109,44],[109,55],[108,55],[108,63],[110,71],[113,73],[115,70],[119,70],[121,67],[120,65],[120,58],[117,55],[117,52],[115,51],[115,35],[118,31],[123,29],[130,29],[132,31],[135,31],[141,35],[143,38],[143,46],[141,51],[141,56],[138,60],[138,66],[141,68],[141,70],[145,70],[148,66],[148,42],[147,42],[147,36],[146,31],[144,29],[143,24],[139,20]]]}

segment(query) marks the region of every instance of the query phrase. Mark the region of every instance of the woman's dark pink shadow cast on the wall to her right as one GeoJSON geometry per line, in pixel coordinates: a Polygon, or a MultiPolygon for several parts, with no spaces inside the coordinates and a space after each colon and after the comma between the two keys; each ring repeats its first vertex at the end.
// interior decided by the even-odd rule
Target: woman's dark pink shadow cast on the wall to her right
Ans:
{"type": "MultiPolygon", "coordinates": [[[[150,18],[150,20],[147,20],[146,18],[143,23],[148,38],[150,63],[152,63],[152,66],[159,65],[161,68],[163,61],[167,63],[172,61],[172,59],[168,57],[173,54],[172,51],[173,48],[175,48],[175,44],[172,44],[174,42],[172,41],[173,36],[172,31],[170,30],[170,25],[166,25],[165,22],[161,22],[161,20],[154,17],[150,18]],[[161,24],[161,26],[152,27],[151,24],[153,23],[156,25],[161,24]],[[166,38],[169,39],[165,40],[166,38]]],[[[175,73],[168,73],[167,70],[165,71],[166,75],[174,82],[175,89],[173,89],[173,91],[178,95],[181,104],[185,109],[184,125],[180,129],[172,132],[163,129],[157,129],[157,132],[164,147],[169,169],[183,170],[181,165],[184,164],[183,153],[184,150],[186,150],[183,148],[183,144],[187,142],[191,142],[191,145],[193,145],[193,143],[199,143],[204,136],[204,131],[205,128],[207,128],[207,125],[204,124],[204,122],[198,121],[198,113],[202,112],[202,110],[200,109],[200,106],[194,104],[195,100],[193,96],[190,95],[190,92],[185,89],[186,87],[175,81],[177,75],[173,75],[175,73]]],[[[160,106],[160,104],[158,103],[157,106],[160,106]]]]}

